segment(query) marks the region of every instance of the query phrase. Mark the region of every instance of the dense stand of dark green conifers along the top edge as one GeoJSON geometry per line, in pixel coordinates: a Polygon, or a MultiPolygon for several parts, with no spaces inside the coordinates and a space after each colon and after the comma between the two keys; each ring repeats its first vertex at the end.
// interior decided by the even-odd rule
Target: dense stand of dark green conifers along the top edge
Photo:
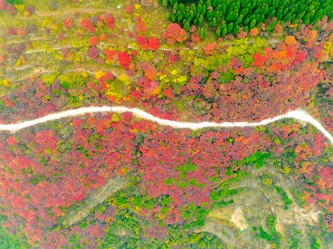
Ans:
{"type": "MultiPolygon", "coordinates": [[[[168,12],[172,22],[183,24],[188,32],[192,24],[201,26],[206,21],[209,27],[217,27],[216,37],[224,37],[227,33],[237,34],[240,30],[248,32],[258,28],[268,20],[267,32],[271,32],[276,24],[290,21],[291,24],[315,24],[327,15],[333,19],[333,2],[326,0],[200,0],[197,4],[181,0],[159,0],[163,6],[172,6],[168,12]],[[185,3],[185,4],[184,4],[185,3]]],[[[207,28],[200,30],[199,36],[207,36],[207,28]]],[[[295,28],[296,30],[296,28],[295,28]]]]}

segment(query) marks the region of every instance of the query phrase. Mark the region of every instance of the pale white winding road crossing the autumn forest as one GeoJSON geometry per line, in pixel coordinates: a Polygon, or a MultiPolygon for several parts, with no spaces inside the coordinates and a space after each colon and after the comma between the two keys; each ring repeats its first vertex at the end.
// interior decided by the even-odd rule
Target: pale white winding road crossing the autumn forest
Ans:
{"type": "Polygon", "coordinates": [[[330,140],[331,144],[333,145],[333,136],[328,132],[323,125],[318,122],[318,120],[312,118],[312,116],[309,116],[309,114],[305,113],[305,111],[296,110],[296,111],[289,111],[285,115],[276,116],[274,118],[268,118],[266,120],[262,120],[260,122],[199,122],[199,123],[193,123],[193,122],[177,122],[172,120],[164,120],[161,118],[157,118],[152,116],[149,113],[146,113],[145,111],[141,111],[140,109],[132,108],[129,109],[127,107],[82,107],[80,109],[74,109],[69,111],[61,111],[59,113],[53,113],[49,114],[47,116],[44,116],[42,118],[37,118],[35,120],[29,120],[25,122],[21,122],[18,124],[0,124],[0,131],[17,131],[19,129],[23,129],[26,127],[33,126],[35,124],[40,124],[42,122],[47,122],[50,120],[56,120],[59,118],[65,118],[68,116],[76,116],[76,115],[82,115],[84,113],[96,113],[96,112],[132,112],[136,116],[139,116],[141,118],[145,118],[147,120],[151,120],[154,122],[157,122],[159,124],[163,125],[169,125],[174,128],[189,128],[189,129],[201,129],[205,127],[256,127],[260,125],[270,124],[272,122],[276,122],[278,120],[281,120],[283,118],[294,118],[296,120],[300,120],[303,122],[307,122],[309,124],[314,125],[318,130],[320,130],[328,140],[330,140]]]}

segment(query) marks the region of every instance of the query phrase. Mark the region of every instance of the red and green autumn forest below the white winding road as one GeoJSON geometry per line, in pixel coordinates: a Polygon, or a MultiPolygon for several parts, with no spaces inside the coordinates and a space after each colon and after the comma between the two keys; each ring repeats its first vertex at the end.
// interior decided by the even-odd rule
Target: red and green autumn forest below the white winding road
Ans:
{"type": "MultiPolygon", "coordinates": [[[[15,135],[2,133],[1,140],[1,162],[8,165],[1,169],[6,206],[1,222],[42,248],[53,243],[102,247],[102,241],[127,243],[129,248],[192,243],[217,248],[216,237],[193,229],[204,225],[213,208],[233,203],[237,191],[228,190],[229,182],[245,176],[242,172],[250,165],[251,171],[253,165],[258,170],[269,160],[284,174],[292,171],[300,178],[298,184],[314,178],[311,189],[306,186],[308,203],[330,210],[332,201],[332,169],[319,165],[332,147],[323,145],[321,134],[300,129],[291,120],[260,129],[191,132],[136,120],[130,113],[106,113],[53,121],[15,135]],[[68,225],[80,212],[65,214],[117,174],[132,184],[68,225]],[[127,235],[117,236],[119,229],[127,235]],[[112,232],[98,232],[102,230],[112,232]]],[[[280,188],[278,192],[283,194],[280,188]]],[[[302,205],[307,205],[305,199],[302,205]]]]}

